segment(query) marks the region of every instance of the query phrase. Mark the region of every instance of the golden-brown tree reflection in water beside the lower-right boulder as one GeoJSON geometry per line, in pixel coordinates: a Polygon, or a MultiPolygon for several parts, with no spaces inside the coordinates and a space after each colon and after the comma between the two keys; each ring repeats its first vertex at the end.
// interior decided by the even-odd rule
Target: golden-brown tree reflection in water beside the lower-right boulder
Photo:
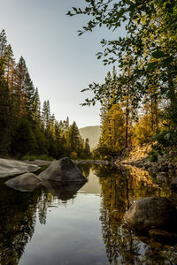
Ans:
{"type": "Polygon", "coordinates": [[[140,197],[165,194],[154,185],[150,175],[143,170],[96,169],[102,186],[102,204],[100,221],[108,260],[113,264],[177,264],[176,254],[173,262],[168,258],[169,250],[150,246],[150,239],[145,243],[124,223],[124,214],[129,205],[140,197]],[[107,175],[106,175],[107,174],[107,175]]]}

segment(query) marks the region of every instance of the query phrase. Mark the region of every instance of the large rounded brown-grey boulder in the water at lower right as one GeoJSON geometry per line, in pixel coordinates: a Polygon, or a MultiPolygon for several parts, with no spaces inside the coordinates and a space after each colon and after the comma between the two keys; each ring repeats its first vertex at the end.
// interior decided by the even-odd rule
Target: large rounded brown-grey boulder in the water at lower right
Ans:
{"type": "Polygon", "coordinates": [[[176,210],[166,198],[141,198],[128,209],[125,219],[135,231],[169,229],[176,221],[176,210]]]}

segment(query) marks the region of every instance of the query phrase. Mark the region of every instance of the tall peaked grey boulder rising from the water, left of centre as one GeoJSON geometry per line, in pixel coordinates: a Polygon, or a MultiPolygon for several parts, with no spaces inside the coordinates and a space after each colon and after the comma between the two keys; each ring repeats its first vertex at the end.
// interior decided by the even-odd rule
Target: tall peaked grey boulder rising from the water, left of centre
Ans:
{"type": "Polygon", "coordinates": [[[76,167],[68,157],[64,157],[56,162],[50,164],[47,170],[44,170],[40,175],[40,178],[53,180],[53,181],[78,181],[86,182],[85,178],[81,171],[76,167]]]}

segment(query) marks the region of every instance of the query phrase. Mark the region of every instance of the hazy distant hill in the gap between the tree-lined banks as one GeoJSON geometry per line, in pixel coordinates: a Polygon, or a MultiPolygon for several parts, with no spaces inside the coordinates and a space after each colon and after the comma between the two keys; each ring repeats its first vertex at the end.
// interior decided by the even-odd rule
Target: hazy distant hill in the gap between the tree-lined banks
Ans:
{"type": "Polygon", "coordinates": [[[89,146],[91,149],[96,148],[100,137],[100,126],[87,126],[81,128],[80,134],[84,140],[86,140],[86,138],[89,138],[89,146]]]}

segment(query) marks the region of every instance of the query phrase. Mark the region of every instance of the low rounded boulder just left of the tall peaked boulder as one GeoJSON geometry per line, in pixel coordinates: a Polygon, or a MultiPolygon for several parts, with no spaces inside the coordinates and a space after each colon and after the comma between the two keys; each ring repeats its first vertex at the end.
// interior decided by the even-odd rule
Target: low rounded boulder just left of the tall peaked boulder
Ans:
{"type": "Polygon", "coordinates": [[[42,184],[42,180],[33,173],[26,173],[9,179],[5,184],[20,192],[33,192],[37,186],[42,184]]]}

